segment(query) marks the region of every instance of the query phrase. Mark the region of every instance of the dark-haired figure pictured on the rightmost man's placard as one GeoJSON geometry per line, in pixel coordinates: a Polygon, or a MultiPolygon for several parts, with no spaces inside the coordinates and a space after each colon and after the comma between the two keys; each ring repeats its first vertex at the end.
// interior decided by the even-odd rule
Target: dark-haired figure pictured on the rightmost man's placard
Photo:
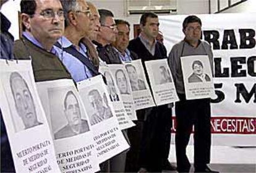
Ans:
{"type": "Polygon", "coordinates": [[[199,60],[193,61],[192,70],[193,70],[193,73],[188,78],[189,83],[211,81],[211,78],[209,77],[209,75],[203,72],[203,63],[201,61],[199,60]]]}

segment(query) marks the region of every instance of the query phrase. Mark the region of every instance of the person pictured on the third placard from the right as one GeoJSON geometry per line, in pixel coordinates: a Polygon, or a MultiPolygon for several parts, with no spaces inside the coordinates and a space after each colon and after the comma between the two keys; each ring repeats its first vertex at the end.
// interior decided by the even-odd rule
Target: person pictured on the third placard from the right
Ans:
{"type": "Polygon", "coordinates": [[[130,79],[130,86],[132,86],[132,91],[146,90],[145,82],[139,78],[137,69],[132,64],[126,65],[126,70],[130,79]]]}

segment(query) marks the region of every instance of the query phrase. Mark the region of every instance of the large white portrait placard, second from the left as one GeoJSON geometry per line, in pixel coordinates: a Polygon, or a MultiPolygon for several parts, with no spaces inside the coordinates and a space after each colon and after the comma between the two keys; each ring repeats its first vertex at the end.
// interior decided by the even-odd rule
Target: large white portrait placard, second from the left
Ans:
{"type": "Polygon", "coordinates": [[[95,142],[87,113],[71,79],[36,83],[62,172],[96,172],[95,142]]]}

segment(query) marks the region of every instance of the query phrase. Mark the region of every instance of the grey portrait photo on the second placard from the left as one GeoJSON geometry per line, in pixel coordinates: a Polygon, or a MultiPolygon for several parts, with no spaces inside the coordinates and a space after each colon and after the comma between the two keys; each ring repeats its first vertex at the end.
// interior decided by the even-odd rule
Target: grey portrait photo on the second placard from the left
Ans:
{"type": "Polygon", "coordinates": [[[48,90],[54,139],[73,137],[89,131],[89,125],[76,95],[70,88],[48,90]],[[83,115],[83,116],[82,116],[83,115]]]}

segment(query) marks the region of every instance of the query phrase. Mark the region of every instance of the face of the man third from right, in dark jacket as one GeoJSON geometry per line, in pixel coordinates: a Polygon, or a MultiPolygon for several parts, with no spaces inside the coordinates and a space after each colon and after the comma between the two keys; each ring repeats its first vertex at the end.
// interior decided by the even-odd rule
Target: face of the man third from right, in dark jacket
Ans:
{"type": "Polygon", "coordinates": [[[128,47],[129,40],[130,40],[130,30],[128,25],[126,24],[119,24],[117,25],[117,34],[116,34],[116,41],[113,44],[117,50],[124,52],[128,47]]]}

